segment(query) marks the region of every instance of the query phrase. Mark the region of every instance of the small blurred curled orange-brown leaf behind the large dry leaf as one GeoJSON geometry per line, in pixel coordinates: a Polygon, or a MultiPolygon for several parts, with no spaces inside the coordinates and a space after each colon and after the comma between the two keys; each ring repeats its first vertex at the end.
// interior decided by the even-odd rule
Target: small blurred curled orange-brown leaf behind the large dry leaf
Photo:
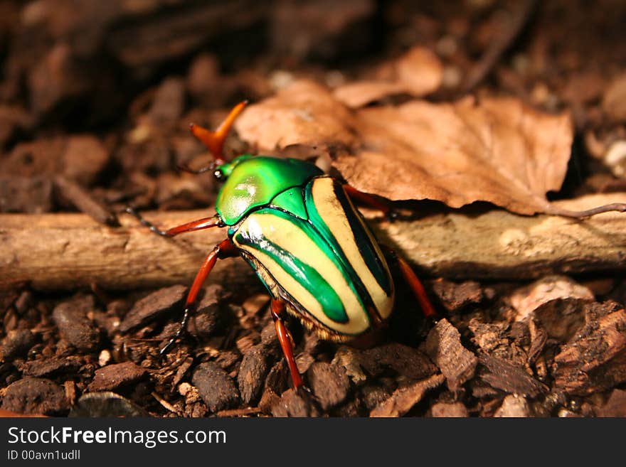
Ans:
{"type": "Polygon", "coordinates": [[[348,107],[358,108],[397,94],[421,97],[440,87],[443,65],[428,48],[413,47],[381,70],[381,79],[350,82],[334,90],[335,97],[348,107]]]}

